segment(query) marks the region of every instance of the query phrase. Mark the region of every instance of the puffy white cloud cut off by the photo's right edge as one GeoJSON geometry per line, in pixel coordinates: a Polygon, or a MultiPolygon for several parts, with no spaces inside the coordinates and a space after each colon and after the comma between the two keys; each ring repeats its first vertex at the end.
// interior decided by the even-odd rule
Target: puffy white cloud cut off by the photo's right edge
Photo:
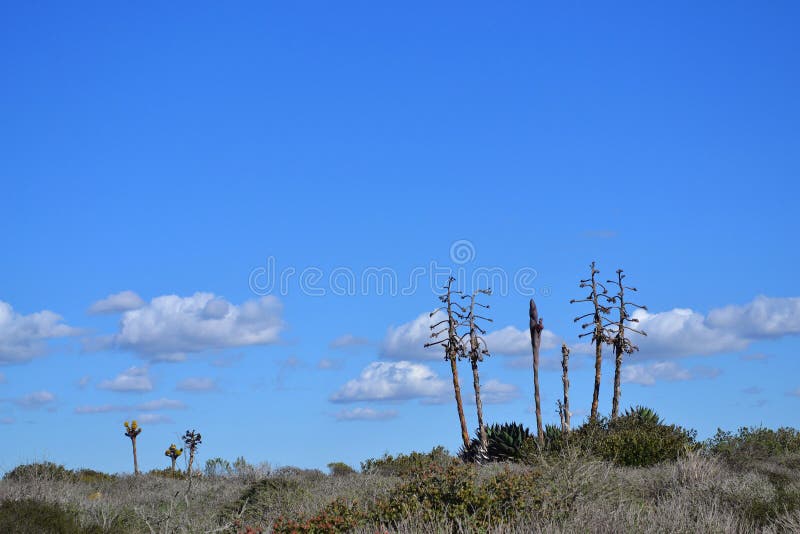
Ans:
{"type": "Polygon", "coordinates": [[[800,334],[800,297],[770,298],[759,295],[743,306],[725,306],[708,313],[713,328],[739,332],[750,338],[800,334]]]}

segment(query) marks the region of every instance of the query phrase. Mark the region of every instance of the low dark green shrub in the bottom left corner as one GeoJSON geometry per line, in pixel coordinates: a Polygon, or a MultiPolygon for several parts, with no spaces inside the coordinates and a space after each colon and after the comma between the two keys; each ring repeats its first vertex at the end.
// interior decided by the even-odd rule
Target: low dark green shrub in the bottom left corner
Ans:
{"type": "Polygon", "coordinates": [[[77,516],[58,505],[34,501],[3,501],[0,503],[0,532],[7,534],[99,534],[94,526],[82,528],[77,516]]]}

